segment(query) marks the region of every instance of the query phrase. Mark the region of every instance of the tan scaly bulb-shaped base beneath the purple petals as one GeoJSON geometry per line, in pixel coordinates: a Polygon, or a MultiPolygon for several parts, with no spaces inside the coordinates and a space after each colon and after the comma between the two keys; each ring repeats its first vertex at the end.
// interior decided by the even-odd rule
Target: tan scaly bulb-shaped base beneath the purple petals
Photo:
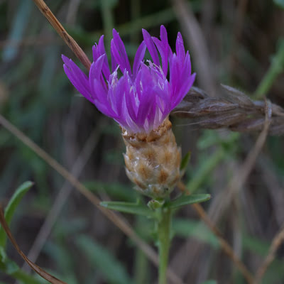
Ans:
{"type": "Polygon", "coordinates": [[[168,119],[150,133],[122,130],[126,145],[126,174],[136,190],[153,198],[164,198],[180,180],[180,148],[168,119]]]}

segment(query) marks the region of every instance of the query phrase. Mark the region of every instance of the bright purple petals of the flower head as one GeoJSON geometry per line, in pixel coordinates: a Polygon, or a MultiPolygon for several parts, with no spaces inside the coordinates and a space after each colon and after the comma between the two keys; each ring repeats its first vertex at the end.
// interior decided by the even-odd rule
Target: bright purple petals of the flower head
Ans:
{"type": "Polygon", "coordinates": [[[195,80],[195,74],[191,74],[190,55],[188,51],[185,53],[180,33],[175,43],[176,53],[170,49],[164,26],[160,26],[160,39],[151,37],[146,30],[142,33],[143,41],[136,52],[132,70],[116,30],[113,30],[111,40],[111,71],[104,49],[104,35],[93,46],[94,62],[89,77],[62,55],[65,73],[74,87],[99,111],[131,133],[149,133],[157,129],[195,80]],[[143,61],[146,48],[153,62],[143,61]]]}

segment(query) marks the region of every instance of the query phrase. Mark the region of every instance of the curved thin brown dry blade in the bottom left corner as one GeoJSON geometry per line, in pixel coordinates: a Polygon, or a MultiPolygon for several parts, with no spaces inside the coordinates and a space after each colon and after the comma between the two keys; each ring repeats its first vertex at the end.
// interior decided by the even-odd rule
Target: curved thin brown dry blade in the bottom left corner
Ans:
{"type": "Polygon", "coordinates": [[[13,238],[13,235],[12,235],[12,233],[11,233],[11,231],[9,229],[9,226],[8,226],[8,224],[6,222],[6,219],[4,217],[4,213],[3,213],[3,210],[2,210],[1,206],[0,206],[0,223],[1,223],[2,227],[3,227],[3,229],[6,231],[6,234],[9,237],[9,239],[10,239],[11,243],[13,244],[13,246],[15,247],[16,251],[18,251],[18,253],[23,258],[23,260],[26,261],[26,263],[28,263],[29,266],[31,266],[33,271],[38,273],[38,275],[40,275],[45,280],[48,280],[48,282],[51,283],[51,284],[67,284],[65,282],[62,282],[58,278],[55,278],[53,275],[50,275],[49,273],[44,271],[43,268],[40,268],[39,266],[37,266],[35,263],[30,261],[26,257],[26,255],[23,253],[23,251],[21,251],[21,249],[19,248],[18,244],[16,243],[16,240],[13,238]]]}

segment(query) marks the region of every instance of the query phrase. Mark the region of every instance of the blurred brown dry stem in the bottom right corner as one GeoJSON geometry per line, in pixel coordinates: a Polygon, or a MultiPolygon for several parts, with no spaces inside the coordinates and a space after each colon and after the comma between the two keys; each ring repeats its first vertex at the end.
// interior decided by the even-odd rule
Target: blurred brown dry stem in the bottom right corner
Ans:
{"type": "Polygon", "coordinates": [[[263,263],[256,271],[256,278],[254,280],[254,284],[261,283],[261,278],[263,278],[263,275],[266,273],[268,266],[270,266],[272,261],[274,260],[275,253],[278,250],[280,244],[283,243],[283,241],[284,241],[284,226],[282,227],[282,229],[280,229],[278,234],[276,234],[276,236],[273,238],[273,241],[268,251],[268,255],[266,256],[263,263]]]}

